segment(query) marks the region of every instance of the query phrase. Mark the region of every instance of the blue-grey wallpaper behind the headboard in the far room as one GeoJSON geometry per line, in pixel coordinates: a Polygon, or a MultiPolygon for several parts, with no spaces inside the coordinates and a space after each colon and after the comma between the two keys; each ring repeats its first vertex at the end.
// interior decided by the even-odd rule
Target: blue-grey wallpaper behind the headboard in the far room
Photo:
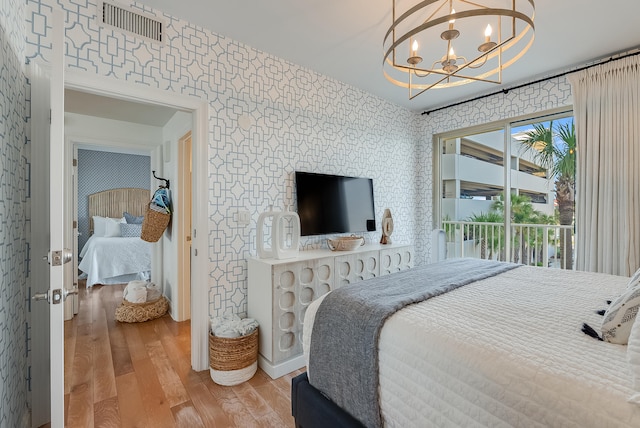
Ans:
{"type": "Polygon", "coordinates": [[[118,187],[148,189],[150,169],[149,156],[78,150],[78,249],[89,239],[89,195],[118,187]]]}

